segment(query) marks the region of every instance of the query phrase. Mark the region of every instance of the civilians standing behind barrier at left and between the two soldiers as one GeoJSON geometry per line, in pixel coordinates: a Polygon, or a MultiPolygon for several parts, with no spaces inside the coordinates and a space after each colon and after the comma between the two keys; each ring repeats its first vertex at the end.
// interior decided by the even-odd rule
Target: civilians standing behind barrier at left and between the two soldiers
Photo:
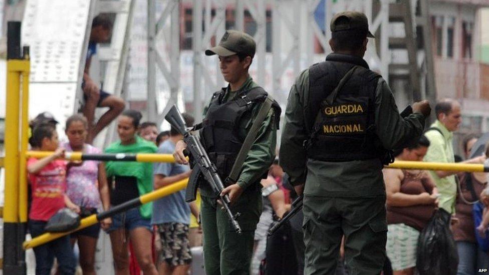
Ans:
{"type": "MultiPolygon", "coordinates": [[[[190,115],[183,114],[183,117],[188,125],[193,125],[190,115]]],[[[66,142],[59,141],[56,132],[58,121],[49,112],[41,113],[31,122],[31,148],[54,151],[49,157],[28,160],[32,194],[29,230],[32,237],[46,232],[47,221],[62,208],[68,207],[85,217],[190,176],[188,165],[175,163],[153,165],[60,159],[66,152],[173,153],[175,144],[183,136],[173,128],[159,132],[155,123],[140,123],[141,118],[138,111],[123,111],[117,118],[119,141],[103,151],[87,143],[88,121],[82,114],[66,120],[66,142]]],[[[274,219],[282,217],[291,207],[290,192],[293,188],[284,187],[284,178],[286,175],[276,159],[268,177],[262,180],[265,210],[260,217],[259,230],[255,232],[256,261],[251,267],[256,274],[265,259],[267,230],[274,219]]],[[[77,266],[73,246],[77,243],[78,264],[83,274],[95,274],[97,239],[103,230],[111,239],[116,274],[129,272],[131,254],[144,274],[156,274],[157,270],[160,274],[187,274],[192,259],[190,247],[202,245],[198,222],[195,222],[195,230],[190,230],[191,220],[198,220],[199,208],[195,201],[185,202],[185,190],[181,190],[152,204],[103,219],[100,223],[34,248],[36,273],[50,274],[56,258],[60,274],[73,274],[77,266]],[[156,257],[153,257],[153,250],[157,251],[156,257]]]]}

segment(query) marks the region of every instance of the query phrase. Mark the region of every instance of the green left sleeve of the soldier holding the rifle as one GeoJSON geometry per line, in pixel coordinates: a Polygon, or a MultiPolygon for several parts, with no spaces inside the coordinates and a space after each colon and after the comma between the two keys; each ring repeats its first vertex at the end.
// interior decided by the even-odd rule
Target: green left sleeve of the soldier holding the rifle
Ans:
{"type": "MultiPolygon", "coordinates": [[[[260,110],[260,107],[257,106],[257,109],[260,110]]],[[[236,182],[241,188],[246,189],[258,181],[269,169],[275,159],[276,146],[277,123],[275,122],[275,111],[272,108],[258,129],[255,142],[244,159],[243,170],[236,182]]]]}

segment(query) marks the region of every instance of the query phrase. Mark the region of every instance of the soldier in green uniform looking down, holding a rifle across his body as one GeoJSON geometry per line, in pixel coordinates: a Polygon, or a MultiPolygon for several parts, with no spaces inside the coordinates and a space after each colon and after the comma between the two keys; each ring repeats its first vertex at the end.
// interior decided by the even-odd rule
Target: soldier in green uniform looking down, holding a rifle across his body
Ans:
{"type": "MultiPolygon", "coordinates": [[[[231,211],[239,212],[242,233],[231,228],[226,214],[207,182],[200,182],[200,217],[203,230],[204,268],[207,274],[248,274],[253,253],[254,232],[262,212],[260,180],[275,159],[280,107],[272,107],[260,124],[238,178],[229,179],[231,167],[244,139],[268,94],[248,74],[256,44],[245,33],[226,31],[219,45],[205,54],[217,55],[226,88],[213,94],[205,111],[200,138],[210,160],[216,165],[228,194],[231,211]],[[226,180],[227,179],[227,180],[226,180]]],[[[270,99],[270,98],[269,98],[270,99]]],[[[175,160],[186,163],[184,142],[176,144],[175,160]]]]}

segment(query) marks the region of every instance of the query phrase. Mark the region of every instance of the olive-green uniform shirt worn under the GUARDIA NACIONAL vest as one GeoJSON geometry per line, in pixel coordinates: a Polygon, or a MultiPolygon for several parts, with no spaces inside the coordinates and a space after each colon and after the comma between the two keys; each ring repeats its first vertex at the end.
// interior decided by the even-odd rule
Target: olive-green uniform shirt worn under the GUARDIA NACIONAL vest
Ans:
{"type": "MultiPolygon", "coordinates": [[[[326,162],[308,159],[303,144],[308,139],[304,123],[304,103],[309,94],[309,69],[292,86],[282,132],[280,164],[293,185],[306,183],[304,194],[311,196],[369,197],[385,195],[382,163],[379,159],[326,162]],[[307,175],[307,178],[306,178],[307,175]]],[[[376,134],[386,149],[402,148],[423,132],[425,117],[414,113],[399,115],[389,86],[379,79],[375,98],[376,134]]]]}

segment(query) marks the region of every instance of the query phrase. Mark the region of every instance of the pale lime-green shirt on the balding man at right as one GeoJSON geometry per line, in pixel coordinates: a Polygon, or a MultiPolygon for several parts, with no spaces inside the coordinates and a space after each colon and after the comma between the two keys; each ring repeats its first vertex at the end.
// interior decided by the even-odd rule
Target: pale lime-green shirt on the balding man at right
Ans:
{"type": "MultiPolygon", "coordinates": [[[[452,145],[453,133],[448,131],[438,120],[431,124],[431,127],[439,129],[441,133],[431,130],[424,134],[430,142],[424,161],[455,162],[452,145]]],[[[429,171],[429,173],[436,183],[438,193],[441,195],[438,207],[445,209],[448,213],[455,213],[455,197],[457,195],[455,175],[440,178],[433,171],[429,171]]]]}

